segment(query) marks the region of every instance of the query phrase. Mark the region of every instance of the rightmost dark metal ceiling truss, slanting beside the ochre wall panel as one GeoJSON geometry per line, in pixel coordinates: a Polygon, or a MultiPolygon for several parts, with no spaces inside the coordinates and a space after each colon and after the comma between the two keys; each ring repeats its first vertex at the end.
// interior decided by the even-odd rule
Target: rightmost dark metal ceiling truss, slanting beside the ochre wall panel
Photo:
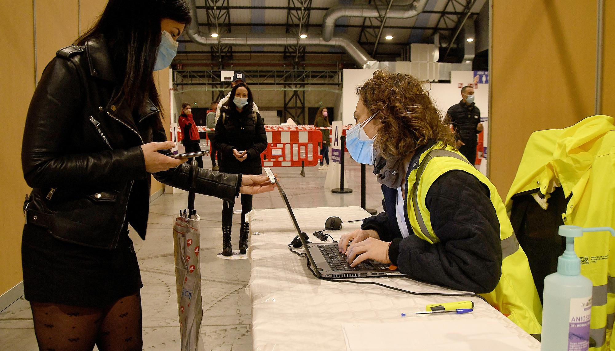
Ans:
{"type": "MultiPolygon", "coordinates": [[[[447,48],[446,55],[454,45],[454,40],[466,23],[467,18],[472,15],[472,7],[476,0],[448,0],[444,7],[444,12],[440,13],[440,18],[436,23],[437,31],[440,34],[440,46],[447,48]]],[[[446,55],[443,57],[445,58],[446,55]]]]}

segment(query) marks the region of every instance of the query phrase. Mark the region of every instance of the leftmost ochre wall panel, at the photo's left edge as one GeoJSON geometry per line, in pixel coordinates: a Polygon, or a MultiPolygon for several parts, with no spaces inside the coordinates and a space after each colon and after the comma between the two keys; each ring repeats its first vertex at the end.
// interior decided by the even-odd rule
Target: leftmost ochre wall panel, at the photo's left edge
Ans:
{"type": "Polygon", "coordinates": [[[22,281],[23,180],[20,153],[23,125],[34,93],[32,1],[0,1],[0,47],[11,55],[0,64],[0,295],[22,281]]]}

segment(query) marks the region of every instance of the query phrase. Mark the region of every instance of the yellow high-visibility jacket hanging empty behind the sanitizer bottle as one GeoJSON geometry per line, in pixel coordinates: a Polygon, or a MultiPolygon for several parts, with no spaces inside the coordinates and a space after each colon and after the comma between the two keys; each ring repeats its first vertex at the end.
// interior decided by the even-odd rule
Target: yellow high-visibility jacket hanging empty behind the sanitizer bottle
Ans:
{"type": "MultiPolygon", "coordinates": [[[[561,187],[569,198],[565,225],[615,227],[615,126],[613,117],[584,118],[565,129],[534,132],[526,144],[517,176],[506,196],[506,208],[519,193],[549,195],[561,187]]],[[[581,274],[593,283],[590,337],[592,351],[615,350],[615,239],[608,233],[577,237],[574,250],[581,274]]]]}

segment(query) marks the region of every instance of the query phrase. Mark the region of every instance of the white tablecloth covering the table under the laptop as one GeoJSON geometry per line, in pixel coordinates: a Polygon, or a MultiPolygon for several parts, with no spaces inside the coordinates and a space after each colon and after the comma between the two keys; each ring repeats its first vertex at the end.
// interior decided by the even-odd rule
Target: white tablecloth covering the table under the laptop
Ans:
{"type": "MultiPolygon", "coordinates": [[[[302,231],[312,242],[312,233],[323,230],[333,215],[343,221],[367,217],[360,207],[315,207],[295,209],[302,231]]],[[[288,250],[296,236],[285,209],[253,210],[248,215],[252,231],[248,249],[251,273],[247,293],[252,298],[253,349],[266,350],[346,350],[342,325],[346,323],[403,323],[401,312],[424,311],[426,304],[472,300],[474,312],[464,315],[430,315],[420,318],[490,318],[516,336],[518,350],[539,350],[536,339],[481,299],[471,297],[413,296],[376,285],[357,285],[316,279],[306,266],[306,258],[288,250]],[[258,234],[256,234],[257,232],[258,234]]],[[[328,232],[336,240],[360,227],[361,222],[344,223],[328,232]]],[[[416,292],[458,293],[407,278],[362,278],[416,292]]],[[[418,318],[418,317],[415,317],[418,318]]],[[[434,338],[438,338],[434,330],[434,338]]],[[[411,345],[411,330],[408,343],[411,345]]],[[[383,350],[386,336],[383,336],[383,350]]]]}

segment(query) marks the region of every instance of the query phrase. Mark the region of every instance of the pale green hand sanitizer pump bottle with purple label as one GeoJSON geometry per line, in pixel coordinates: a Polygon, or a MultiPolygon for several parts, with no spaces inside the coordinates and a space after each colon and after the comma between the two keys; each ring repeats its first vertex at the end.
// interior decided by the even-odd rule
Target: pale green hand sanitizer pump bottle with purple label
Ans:
{"type": "Polygon", "coordinates": [[[591,280],[581,276],[581,260],[574,252],[574,238],[587,231],[610,231],[615,236],[615,230],[608,227],[560,226],[566,250],[557,260],[557,272],[544,279],[542,351],[589,349],[593,287],[591,280]]]}

